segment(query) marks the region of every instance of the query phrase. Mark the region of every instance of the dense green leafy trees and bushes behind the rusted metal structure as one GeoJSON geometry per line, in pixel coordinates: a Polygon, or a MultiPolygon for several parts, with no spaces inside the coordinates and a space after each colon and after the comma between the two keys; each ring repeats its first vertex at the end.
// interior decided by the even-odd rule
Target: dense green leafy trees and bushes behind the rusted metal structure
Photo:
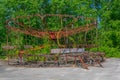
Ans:
{"type": "MultiPolygon", "coordinates": [[[[91,51],[103,51],[107,57],[120,57],[119,2],[118,0],[0,0],[0,55],[6,54],[2,50],[2,45],[6,44],[7,37],[6,20],[16,16],[53,13],[95,18],[98,21],[99,39],[97,43],[99,47],[93,48],[91,51]]],[[[31,23],[31,25],[37,24],[31,23]]],[[[50,28],[51,30],[60,28],[60,26],[57,26],[59,24],[53,24],[52,21],[49,25],[56,26],[50,28]]],[[[42,27],[40,28],[43,29],[42,27]]],[[[12,38],[11,41],[16,42],[14,43],[16,45],[23,44],[20,43],[24,39],[23,37],[25,36],[20,34],[19,40],[12,38]]],[[[52,44],[47,39],[36,39],[34,37],[33,39],[36,42],[41,41],[39,42],[41,44],[43,42],[46,45],[48,43],[52,44]]],[[[29,43],[32,43],[32,41],[29,41],[29,43]]],[[[48,48],[47,50],[49,50],[48,48]]],[[[42,52],[46,53],[46,50],[42,52]]]]}

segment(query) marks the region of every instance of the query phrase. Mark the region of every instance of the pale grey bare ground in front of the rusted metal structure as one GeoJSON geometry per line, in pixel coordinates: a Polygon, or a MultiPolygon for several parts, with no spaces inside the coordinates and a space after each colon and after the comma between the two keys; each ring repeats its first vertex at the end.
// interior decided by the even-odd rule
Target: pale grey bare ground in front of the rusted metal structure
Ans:
{"type": "Polygon", "coordinates": [[[104,68],[25,68],[0,61],[0,80],[120,80],[120,59],[107,59],[104,68]]]}

